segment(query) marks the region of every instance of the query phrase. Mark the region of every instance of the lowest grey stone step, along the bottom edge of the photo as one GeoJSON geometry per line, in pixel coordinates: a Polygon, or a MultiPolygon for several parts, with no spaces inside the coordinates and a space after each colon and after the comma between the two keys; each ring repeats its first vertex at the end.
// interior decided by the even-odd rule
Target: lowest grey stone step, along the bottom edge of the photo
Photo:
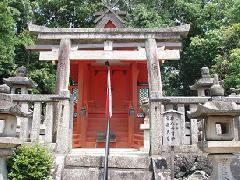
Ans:
{"type": "MultiPolygon", "coordinates": [[[[149,170],[138,169],[109,169],[108,179],[111,180],[152,180],[153,173],[149,170]]],[[[74,168],[63,170],[63,180],[102,180],[103,169],[74,168]]]]}

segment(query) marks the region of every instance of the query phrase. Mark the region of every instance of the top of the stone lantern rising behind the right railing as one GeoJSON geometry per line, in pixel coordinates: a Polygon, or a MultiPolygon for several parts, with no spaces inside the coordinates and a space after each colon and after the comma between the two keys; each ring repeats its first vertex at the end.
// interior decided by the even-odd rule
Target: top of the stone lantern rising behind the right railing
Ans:
{"type": "Polygon", "coordinates": [[[190,86],[191,90],[195,90],[198,93],[198,96],[207,96],[207,90],[213,85],[213,78],[209,74],[208,67],[201,68],[201,78],[190,86]]]}

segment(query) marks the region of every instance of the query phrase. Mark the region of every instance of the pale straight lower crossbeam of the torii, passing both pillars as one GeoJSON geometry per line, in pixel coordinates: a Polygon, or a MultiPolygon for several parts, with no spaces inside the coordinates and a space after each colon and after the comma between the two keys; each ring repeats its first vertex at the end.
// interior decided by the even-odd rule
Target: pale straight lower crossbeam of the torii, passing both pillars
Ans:
{"type": "MultiPolygon", "coordinates": [[[[39,60],[56,61],[58,59],[58,51],[41,51],[39,60]]],[[[138,51],[74,51],[70,52],[71,60],[134,60],[144,61],[147,59],[144,50],[138,51]]],[[[161,50],[157,51],[157,59],[159,60],[179,60],[179,50],[161,50]]]]}

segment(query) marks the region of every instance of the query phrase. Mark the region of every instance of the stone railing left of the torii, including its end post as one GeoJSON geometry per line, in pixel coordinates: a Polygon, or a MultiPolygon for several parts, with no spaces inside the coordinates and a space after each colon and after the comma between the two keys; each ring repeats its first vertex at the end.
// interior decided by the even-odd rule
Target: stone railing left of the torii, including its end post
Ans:
{"type": "Polygon", "coordinates": [[[61,95],[11,94],[29,118],[18,118],[18,134],[24,143],[43,143],[55,152],[68,152],[72,145],[72,100],[61,95]]]}

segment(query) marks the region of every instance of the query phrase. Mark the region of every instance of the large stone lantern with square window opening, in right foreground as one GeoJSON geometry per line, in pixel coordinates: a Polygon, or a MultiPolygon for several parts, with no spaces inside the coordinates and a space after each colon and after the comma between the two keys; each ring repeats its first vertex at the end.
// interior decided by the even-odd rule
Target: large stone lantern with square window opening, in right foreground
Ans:
{"type": "Polygon", "coordinates": [[[210,88],[212,99],[203,105],[198,105],[196,111],[190,112],[190,118],[203,121],[204,140],[199,142],[200,149],[209,153],[213,163],[212,180],[236,179],[231,162],[234,153],[240,152],[240,141],[234,140],[234,118],[240,115],[240,106],[224,98],[224,90],[219,85],[217,75],[210,88]]]}

